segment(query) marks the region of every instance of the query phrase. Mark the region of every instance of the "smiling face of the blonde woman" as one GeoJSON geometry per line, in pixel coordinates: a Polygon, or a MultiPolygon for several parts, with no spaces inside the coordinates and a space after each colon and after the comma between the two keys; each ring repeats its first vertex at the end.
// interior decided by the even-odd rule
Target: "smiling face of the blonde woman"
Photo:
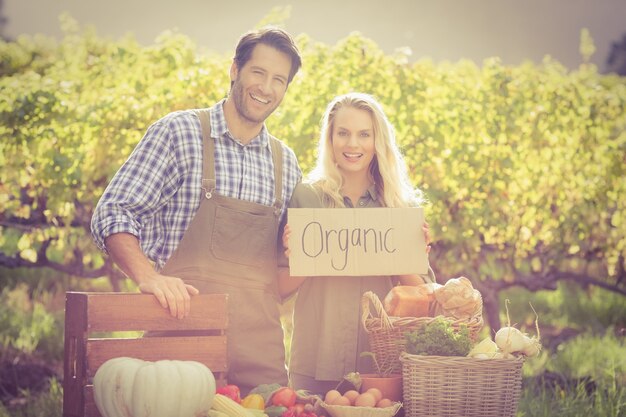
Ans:
{"type": "Polygon", "coordinates": [[[335,115],[331,133],[335,163],[344,176],[367,175],[374,159],[374,124],[371,114],[342,107],[335,115]]]}

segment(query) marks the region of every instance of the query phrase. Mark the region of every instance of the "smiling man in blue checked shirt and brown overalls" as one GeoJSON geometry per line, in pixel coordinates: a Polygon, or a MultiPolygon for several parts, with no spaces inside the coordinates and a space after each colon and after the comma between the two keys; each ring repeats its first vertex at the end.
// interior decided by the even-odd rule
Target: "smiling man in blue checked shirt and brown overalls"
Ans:
{"type": "Polygon", "coordinates": [[[264,121],[300,65],[286,32],[245,34],[228,97],[151,125],[92,218],[97,245],[173,316],[198,292],[229,294],[228,380],[243,392],[287,383],[277,233],[302,174],[264,121]]]}

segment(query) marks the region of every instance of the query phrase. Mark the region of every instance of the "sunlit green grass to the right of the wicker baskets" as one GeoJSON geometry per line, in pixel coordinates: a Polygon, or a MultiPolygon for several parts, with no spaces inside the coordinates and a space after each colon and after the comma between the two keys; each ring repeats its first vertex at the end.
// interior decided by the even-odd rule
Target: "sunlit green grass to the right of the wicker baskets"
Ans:
{"type": "Polygon", "coordinates": [[[517,417],[626,417],[623,296],[561,283],[556,291],[509,290],[501,294],[502,305],[506,298],[512,301],[511,321],[534,335],[535,315],[528,304],[532,303],[539,315],[542,341],[552,349],[544,349],[525,363],[517,417]],[[562,337],[563,331],[569,338],[562,337]],[[545,386],[536,378],[544,372],[572,384],[545,386]],[[595,390],[589,393],[582,380],[593,381],[595,390]]]}

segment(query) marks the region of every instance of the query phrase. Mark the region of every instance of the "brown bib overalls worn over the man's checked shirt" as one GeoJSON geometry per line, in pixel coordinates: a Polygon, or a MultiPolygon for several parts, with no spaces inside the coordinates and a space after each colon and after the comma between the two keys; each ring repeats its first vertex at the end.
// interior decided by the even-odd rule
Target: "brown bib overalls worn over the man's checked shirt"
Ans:
{"type": "Polygon", "coordinates": [[[242,393],[262,383],[286,385],[276,266],[282,147],[270,136],[274,206],[218,195],[209,112],[197,114],[204,143],[203,197],[162,273],[183,279],[201,293],[229,295],[228,383],[238,385],[242,393]]]}

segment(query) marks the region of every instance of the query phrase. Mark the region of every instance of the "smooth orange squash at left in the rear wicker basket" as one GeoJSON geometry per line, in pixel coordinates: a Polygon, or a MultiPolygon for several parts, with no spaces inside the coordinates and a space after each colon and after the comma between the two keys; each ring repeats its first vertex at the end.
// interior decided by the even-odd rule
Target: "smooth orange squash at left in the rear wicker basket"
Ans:
{"type": "Polygon", "coordinates": [[[385,311],[394,317],[429,317],[435,288],[430,284],[393,287],[383,301],[385,311]]]}

